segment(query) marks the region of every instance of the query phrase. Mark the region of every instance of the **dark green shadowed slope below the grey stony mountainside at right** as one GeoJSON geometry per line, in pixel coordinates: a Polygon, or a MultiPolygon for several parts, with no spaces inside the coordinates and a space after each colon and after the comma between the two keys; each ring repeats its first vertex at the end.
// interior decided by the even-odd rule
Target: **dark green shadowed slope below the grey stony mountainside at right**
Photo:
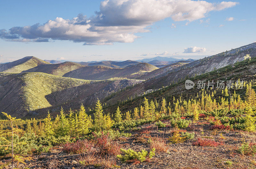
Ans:
{"type": "MultiPolygon", "coordinates": [[[[135,107],[139,107],[143,104],[144,97],[150,101],[152,100],[161,100],[163,97],[166,98],[167,101],[173,101],[173,96],[175,98],[180,98],[180,95],[182,94],[183,98],[195,98],[197,96],[197,93],[200,93],[201,89],[197,89],[197,81],[206,81],[205,84],[205,90],[208,86],[208,81],[212,82],[212,80],[215,82],[214,90],[217,88],[217,81],[225,81],[225,84],[229,80],[231,81],[237,81],[240,79],[240,81],[251,81],[254,80],[255,83],[255,69],[256,69],[256,57],[252,58],[250,62],[249,60],[244,60],[240,62],[236,62],[233,65],[228,65],[226,67],[222,67],[220,69],[213,70],[209,73],[197,75],[194,77],[189,78],[189,80],[193,81],[195,83],[194,88],[187,90],[185,88],[185,81],[186,79],[179,81],[175,84],[170,85],[169,87],[165,87],[162,89],[156,89],[156,90],[149,90],[146,92],[147,94],[144,95],[144,88],[147,85],[147,82],[144,82],[142,84],[135,85],[133,88],[127,89],[123,92],[119,92],[117,95],[114,95],[112,98],[108,98],[107,105],[109,105],[105,112],[115,112],[117,107],[117,102],[119,102],[119,108],[122,110],[122,112],[133,110],[135,107]],[[135,97],[135,94],[137,97],[135,97]],[[128,99],[128,98],[134,98],[134,99],[128,99]],[[122,105],[120,105],[120,100],[122,101],[122,105]]],[[[225,85],[226,86],[226,85],[225,85]]],[[[253,87],[254,89],[255,86],[253,87]]],[[[233,89],[230,89],[230,92],[233,93],[235,87],[233,89]]],[[[217,94],[215,95],[215,98],[219,98],[219,96],[224,96],[224,94],[221,94],[222,89],[217,90],[217,94]]],[[[202,91],[201,91],[202,92],[202,91]]],[[[246,93],[246,88],[243,89],[236,89],[236,94],[240,94],[241,98],[244,98],[244,95],[246,93]]]]}

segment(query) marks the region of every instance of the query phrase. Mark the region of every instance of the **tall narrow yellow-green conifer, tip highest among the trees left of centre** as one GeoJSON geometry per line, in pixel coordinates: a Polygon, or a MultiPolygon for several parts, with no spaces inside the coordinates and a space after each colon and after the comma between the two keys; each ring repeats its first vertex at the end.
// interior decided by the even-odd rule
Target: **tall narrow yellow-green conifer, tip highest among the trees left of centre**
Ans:
{"type": "Polygon", "coordinates": [[[97,100],[95,113],[94,113],[94,127],[96,131],[99,131],[104,128],[104,117],[103,117],[103,110],[100,103],[100,100],[97,100]]]}

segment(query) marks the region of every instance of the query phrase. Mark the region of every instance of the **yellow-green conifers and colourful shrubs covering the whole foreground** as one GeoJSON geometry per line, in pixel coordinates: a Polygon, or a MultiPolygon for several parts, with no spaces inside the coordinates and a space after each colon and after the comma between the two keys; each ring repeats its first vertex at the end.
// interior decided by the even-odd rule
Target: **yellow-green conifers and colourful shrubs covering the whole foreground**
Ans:
{"type": "MultiPolygon", "coordinates": [[[[183,154],[189,158],[195,152],[210,152],[207,158],[212,153],[219,155],[213,158],[215,161],[198,164],[199,168],[253,168],[255,85],[255,80],[238,81],[232,84],[232,90],[205,88],[191,97],[180,93],[172,99],[148,100],[145,96],[139,107],[125,112],[120,110],[122,105],[115,112],[105,112],[104,103],[98,99],[92,110],[83,104],[79,110],[61,107],[57,116],[48,111],[42,119],[16,119],[2,113],[0,168],[123,168],[141,164],[148,168],[184,168],[191,164],[177,166],[174,157],[184,162],[183,154]],[[189,146],[193,153],[186,152],[189,146]],[[44,164],[35,162],[34,158],[47,158],[48,152],[55,158],[51,156],[44,164]],[[59,154],[74,161],[60,162],[59,154]]],[[[195,161],[207,160],[197,155],[193,156],[195,161]]]]}

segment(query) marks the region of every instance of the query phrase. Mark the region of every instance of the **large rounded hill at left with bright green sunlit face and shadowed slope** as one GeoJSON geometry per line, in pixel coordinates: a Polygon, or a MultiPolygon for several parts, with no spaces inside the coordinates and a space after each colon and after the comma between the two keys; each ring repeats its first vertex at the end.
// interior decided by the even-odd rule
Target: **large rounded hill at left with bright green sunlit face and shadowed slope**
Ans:
{"type": "MultiPolygon", "coordinates": [[[[111,92],[140,80],[87,81],[45,73],[0,73],[0,111],[16,117],[35,116],[40,110],[68,104],[92,104],[111,92]]],[[[70,105],[69,105],[70,106],[70,105]]],[[[45,112],[44,112],[45,113],[45,112]]]]}

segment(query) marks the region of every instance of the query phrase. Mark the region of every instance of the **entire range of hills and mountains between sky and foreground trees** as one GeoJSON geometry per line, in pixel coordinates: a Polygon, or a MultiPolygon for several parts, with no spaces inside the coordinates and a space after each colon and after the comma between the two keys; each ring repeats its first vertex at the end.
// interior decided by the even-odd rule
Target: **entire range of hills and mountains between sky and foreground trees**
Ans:
{"type": "MultiPolygon", "coordinates": [[[[162,64],[160,68],[132,60],[52,64],[52,61],[29,56],[0,64],[0,111],[17,117],[43,116],[47,110],[57,111],[60,106],[67,109],[77,108],[81,103],[89,106],[97,98],[111,107],[117,102],[199,77],[200,74],[209,80],[213,77],[211,72],[216,76],[222,74],[220,78],[223,78],[225,71],[230,74],[232,69],[232,78],[243,77],[243,74],[248,74],[244,71],[251,70],[243,69],[247,65],[241,66],[246,54],[254,60],[256,43],[195,61],[149,61],[162,64]],[[238,70],[241,73],[236,72],[238,70]]],[[[255,70],[249,74],[255,74],[255,70]]]]}

